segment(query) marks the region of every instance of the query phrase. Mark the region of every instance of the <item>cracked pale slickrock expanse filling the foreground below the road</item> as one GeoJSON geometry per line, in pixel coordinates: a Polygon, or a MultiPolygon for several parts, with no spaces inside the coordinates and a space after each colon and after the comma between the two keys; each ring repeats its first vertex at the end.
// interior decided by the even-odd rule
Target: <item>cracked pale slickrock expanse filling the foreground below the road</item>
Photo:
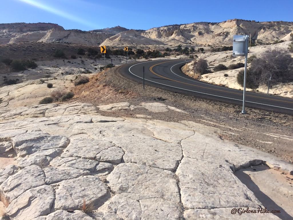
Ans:
{"type": "MultiPolygon", "coordinates": [[[[231,214],[233,208],[265,207],[234,172],[269,166],[292,177],[293,165],[226,141],[219,129],[199,123],[98,113],[142,107],[180,111],[160,103],[2,111],[0,149],[17,163],[0,170],[1,201],[11,219],[280,219],[231,214]]],[[[290,187],[284,190],[292,195],[290,187]]]]}

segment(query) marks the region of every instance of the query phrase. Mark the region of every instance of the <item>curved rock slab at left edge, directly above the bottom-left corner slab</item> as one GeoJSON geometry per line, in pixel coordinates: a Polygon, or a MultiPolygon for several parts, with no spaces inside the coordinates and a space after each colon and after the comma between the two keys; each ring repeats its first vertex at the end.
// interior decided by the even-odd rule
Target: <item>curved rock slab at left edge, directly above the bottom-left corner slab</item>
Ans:
{"type": "Polygon", "coordinates": [[[41,185],[45,185],[43,170],[36,165],[25,167],[0,185],[1,201],[7,207],[23,192],[41,185]]]}

